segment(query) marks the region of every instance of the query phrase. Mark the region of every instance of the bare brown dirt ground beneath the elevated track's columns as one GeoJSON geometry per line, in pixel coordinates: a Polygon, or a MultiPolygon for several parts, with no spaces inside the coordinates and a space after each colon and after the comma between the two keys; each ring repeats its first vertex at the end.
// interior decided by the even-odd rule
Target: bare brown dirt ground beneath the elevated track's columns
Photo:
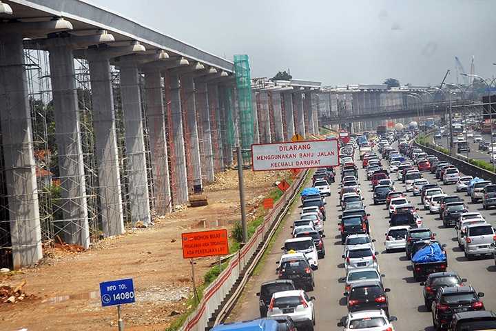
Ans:
{"type": "MultiPolygon", "coordinates": [[[[249,217],[273,182],[285,176],[287,172],[245,170],[249,217]]],[[[82,253],[52,250],[36,267],[0,274],[0,286],[25,279],[23,291],[37,298],[0,302],[0,330],[116,330],[116,308],[101,307],[99,283],[128,277],[134,279],[136,303],[123,306],[125,329],[165,330],[176,314],[187,310],[192,294],[191,266],[182,257],[180,233],[231,228],[240,218],[236,170],[218,174],[205,193],[209,205],[158,217],[153,228],[129,230],[82,253]]],[[[197,284],[214,261],[198,259],[197,284]]]]}

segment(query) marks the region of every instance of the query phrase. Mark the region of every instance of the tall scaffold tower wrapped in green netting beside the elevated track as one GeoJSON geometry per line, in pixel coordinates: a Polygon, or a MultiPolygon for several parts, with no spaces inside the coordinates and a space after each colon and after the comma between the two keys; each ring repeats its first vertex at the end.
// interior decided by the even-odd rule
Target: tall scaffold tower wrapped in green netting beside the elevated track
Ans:
{"type": "Polygon", "coordinates": [[[254,117],[251,109],[251,79],[248,55],[234,55],[236,92],[238,94],[239,134],[243,163],[251,161],[251,144],[254,141],[254,117]]]}

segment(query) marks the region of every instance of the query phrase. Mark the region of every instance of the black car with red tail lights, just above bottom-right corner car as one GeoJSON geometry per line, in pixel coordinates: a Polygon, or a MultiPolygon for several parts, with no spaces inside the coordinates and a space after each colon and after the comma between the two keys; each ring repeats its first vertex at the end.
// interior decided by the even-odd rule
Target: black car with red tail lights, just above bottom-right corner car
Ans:
{"type": "Polygon", "coordinates": [[[447,328],[453,314],[458,312],[484,310],[484,303],[479,300],[481,297],[484,293],[475,292],[471,285],[440,288],[431,303],[434,327],[437,330],[447,328]]]}

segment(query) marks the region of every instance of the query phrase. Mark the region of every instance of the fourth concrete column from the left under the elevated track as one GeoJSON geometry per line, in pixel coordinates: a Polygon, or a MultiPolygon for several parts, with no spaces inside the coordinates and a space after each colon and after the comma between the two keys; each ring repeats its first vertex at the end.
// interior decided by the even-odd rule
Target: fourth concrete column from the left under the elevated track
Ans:
{"type": "Polygon", "coordinates": [[[152,220],[149,211],[148,177],[141,116],[141,92],[138,67],[121,66],[121,101],[125,128],[125,156],[131,221],[148,225],[152,220]]]}

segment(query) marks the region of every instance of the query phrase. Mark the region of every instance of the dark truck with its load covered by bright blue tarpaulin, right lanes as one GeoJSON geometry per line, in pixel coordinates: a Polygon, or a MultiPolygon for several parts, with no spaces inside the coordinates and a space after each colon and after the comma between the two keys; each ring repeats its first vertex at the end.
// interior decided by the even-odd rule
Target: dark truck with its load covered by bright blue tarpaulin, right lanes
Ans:
{"type": "Polygon", "coordinates": [[[426,279],[433,272],[446,271],[448,257],[445,247],[446,245],[433,240],[417,241],[413,244],[411,263],[415,281],[426,279]]]}

